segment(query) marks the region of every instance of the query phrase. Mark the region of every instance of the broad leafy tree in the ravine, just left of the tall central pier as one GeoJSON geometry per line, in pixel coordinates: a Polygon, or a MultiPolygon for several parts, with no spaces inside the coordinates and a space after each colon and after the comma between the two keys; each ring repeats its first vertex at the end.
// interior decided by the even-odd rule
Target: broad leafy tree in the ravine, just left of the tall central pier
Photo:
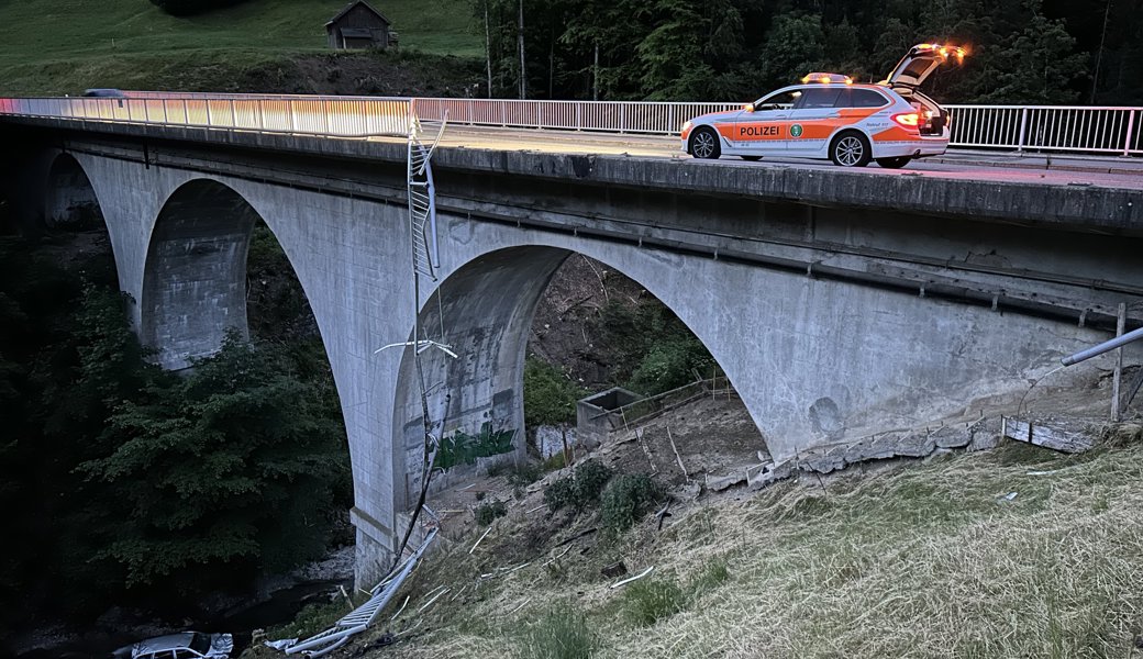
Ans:
{"type": "MultiPolygon", "coordinates": [[[[336,415],[334,415],[336,416],[336,415]]],[[[231,335],[193,373],[119,405],[81,465],[130,504],[99,556],[191,590],[203,568],[274,572],[323,548],[344,431],[271,346],[231,335]]]]}

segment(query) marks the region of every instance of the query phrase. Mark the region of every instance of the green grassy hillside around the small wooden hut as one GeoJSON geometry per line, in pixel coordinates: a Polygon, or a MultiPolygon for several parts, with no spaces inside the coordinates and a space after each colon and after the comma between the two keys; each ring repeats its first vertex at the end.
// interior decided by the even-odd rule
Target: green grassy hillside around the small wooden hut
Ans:
{"type": "MultiPolygon", "coordinates": [[[[168,16],[147,0],[0,0],[0,94],[88,87],[189,88],[305,54],[329,53],[326,22],[345,0],[251,0],[168,16]]],[[[467,0],[378,0],[402,50],[478,56],[467,0]]]]}

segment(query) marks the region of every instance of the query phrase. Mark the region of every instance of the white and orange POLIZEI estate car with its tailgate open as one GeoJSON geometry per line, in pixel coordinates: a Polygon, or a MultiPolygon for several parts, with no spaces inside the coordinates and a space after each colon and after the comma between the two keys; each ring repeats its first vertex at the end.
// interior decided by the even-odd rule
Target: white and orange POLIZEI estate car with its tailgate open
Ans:
{"type": "Polygon", "coordinates": [[[920,43],[877,85],[837,73],[810,73],[741,110],[697,116],[682,126],[682,151],[695,158],[738,155],[830,159],[842,167],[904,167],[949,146],[949,112],[918,90],[965,49],[920,43]]]}

